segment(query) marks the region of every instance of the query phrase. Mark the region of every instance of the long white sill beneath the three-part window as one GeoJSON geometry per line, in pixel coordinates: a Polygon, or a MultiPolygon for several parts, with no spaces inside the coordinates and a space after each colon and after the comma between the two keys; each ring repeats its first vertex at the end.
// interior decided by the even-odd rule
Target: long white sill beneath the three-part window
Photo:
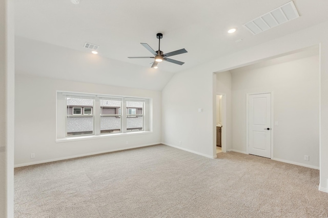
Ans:
{"type": "Polygon", "coordinates": [[[144,135],[144,134],[152,134],[152,133],[153,133],[152,131],[139,131],[139,132],[112,133],[112,134],[101,134],[101,135],[72,136],[72,137],[56,139],[56,143],[99,139],[99,138],[112,138],[112,137],[120,137],[120,136],[127,136],[127,135],[144,135]]]}

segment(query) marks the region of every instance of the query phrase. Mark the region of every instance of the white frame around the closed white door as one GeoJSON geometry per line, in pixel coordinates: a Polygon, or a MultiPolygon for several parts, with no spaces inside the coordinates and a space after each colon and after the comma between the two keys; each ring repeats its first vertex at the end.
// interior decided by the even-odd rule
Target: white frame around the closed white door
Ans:
{"type": "Polygon", "coordinates": [[[273,140],[273,136],[274,136],[274,107],[273,107],[273,91],[262,91],[262,92],[251,92],[251,93],[246,93],[246,153],[250,154],[249,152],[249,134],[250,134],[250,130],[249,130],[249,96],[253,95],[253,94],[271,94],[271,159],[274,158],[273,152],[274,152],[274,140],[273,140]]]}

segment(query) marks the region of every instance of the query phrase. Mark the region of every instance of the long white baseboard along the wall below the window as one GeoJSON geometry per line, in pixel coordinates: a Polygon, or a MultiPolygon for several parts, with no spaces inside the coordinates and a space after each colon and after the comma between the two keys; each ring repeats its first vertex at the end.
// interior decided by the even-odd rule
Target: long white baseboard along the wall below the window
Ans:
{"type": "Polygon", "coordinates": [[[80,154],[80,155],[74,155],[74,156],[68,156],[68,157],[60,157],[60,158],[54,158],[54,159],[49,159],[49,160],[40,160],[40,161],[34,161],[34,162],[28,162],[28,163],[20,163],[20,164],[14,165],[14,167],[29,166],[29,165],[35,165],[35,164],[40,164],[40,163],[54,162],[54,161],[58,161],[58,160],[68,160],[68,159],[77,158],[77,157],[86,157],[86,156],[97,155],[97,154],[105,154],[105,153],[109,153],[109,152],[124,151],[124,150],[128,150],[128,149],[136,149],[136,148],[141,148],[141,147],[154,146],[155,144],[161,144],[161,142],[142,144],[141,146],[131,146],[131,147],[120,148],[120,149],[111,149],[111,150],[106,150],[106,151],[101,151],[101,152],[92,152],[92,153],[80,154]]]}

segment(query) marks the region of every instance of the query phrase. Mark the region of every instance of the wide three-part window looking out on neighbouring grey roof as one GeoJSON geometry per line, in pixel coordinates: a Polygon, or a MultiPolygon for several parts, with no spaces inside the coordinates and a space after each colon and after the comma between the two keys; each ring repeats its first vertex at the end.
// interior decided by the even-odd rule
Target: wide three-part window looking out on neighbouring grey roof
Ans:
{"type": "Polygon", "coordinates": [[[151,113],[145,114],[145,111],[151,108],[150,101],[124,96],[57,92],[57,139],[149,130],[152,119],[148,116],[151,113]]]}

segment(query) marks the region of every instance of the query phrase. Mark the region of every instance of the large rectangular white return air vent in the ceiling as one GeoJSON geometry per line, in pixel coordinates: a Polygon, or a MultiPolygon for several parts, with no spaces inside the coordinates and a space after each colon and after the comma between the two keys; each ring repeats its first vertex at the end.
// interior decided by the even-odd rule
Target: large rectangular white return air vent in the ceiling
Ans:
{"type": "Polygon", "coordinates": [[[251,33],[256,35],[297,17],[299,17],[299,14],[296,10],[294,2],[291,1],[270,11],[269,13],[263,14],[254,20],[244,23],[243,26],[251,33]]]}

